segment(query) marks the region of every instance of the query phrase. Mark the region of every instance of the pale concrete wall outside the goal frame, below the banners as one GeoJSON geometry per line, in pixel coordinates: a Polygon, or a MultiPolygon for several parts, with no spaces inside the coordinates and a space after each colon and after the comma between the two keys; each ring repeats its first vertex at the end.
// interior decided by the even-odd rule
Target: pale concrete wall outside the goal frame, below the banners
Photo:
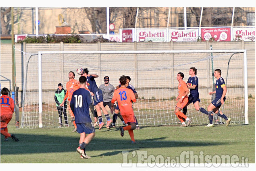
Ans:
{"type": "MultiPolygon", "coordinates": [[[[25,57],[23,52],[29,54],[38,51],[117,51],[117,50],[203,50],[210,49],[210,45],[216,49],[247,49],[248,65],[248,94],[255,96],[255,41],[252,42],[133,42],[133,43],[30,43],[15,44],[16,58],[16,82],[19,87],[19,101],[21,102],[23,92],[23,68],[25,57]]],[[[37,67],[37,66],[35,66],[37,67]]],[[[176,73],[176,72],[175,72],[176,73]]],[[[175,74],[174,73],[174,74],[175,74]]],[[[104,74],[104,73],[102,73],[104,74]]],[[[119,74],[120,76],[120,74],[119,74]]],[[[62,82],[66,82],[66,75],[62,82]]],[[[139,76],[138,76],[139,77],[139,76]]],[[[142,77],[142,76],[141,76],[142,77]]],[[[199,76],[198,76],[199,77],[199,76]]],[[[210,77],[210,74],[209,74],[210,77]]],[[[118,77],[117,77],[118,79],[118,77]]],[[[102,84],[102,78],[98,79],[98,86],[102,84]]],[[[187,80],[187,78],[186,78],[187,80]]],[[[185,81],[186,81],[185,80],[185,81]]],[[[117,81],[118,82],[118,81],[117,81]]],[[[136,87],[137,82],[133,79],[132,84],[136,87]]],[[[114,84],[115,85],[115,84],[114,84]]],[[[176,84],[175,84],[176,85],[176,84]]],[[[12,89],[12,56],[11,44],[1,43],[1,88],[12,89]]],[[[12,91],[12,90],[11,90],[12,91]]]]}

